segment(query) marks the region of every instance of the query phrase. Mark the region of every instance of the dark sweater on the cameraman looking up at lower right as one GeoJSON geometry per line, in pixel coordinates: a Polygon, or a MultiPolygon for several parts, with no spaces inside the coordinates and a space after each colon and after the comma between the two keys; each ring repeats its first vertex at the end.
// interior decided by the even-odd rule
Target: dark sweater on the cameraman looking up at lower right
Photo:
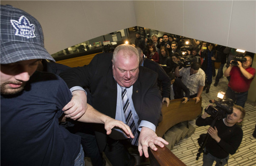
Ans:
{"type": "MultiPolygon", "coordinates": [[[[200,116],[195,124],[197,126],[207,126],[210,125],[212,121],[212,117],[203,119],[200,116]]],[[[242,129],[236,124],[232,127],[226,126],[223,119],[216,121],[215,127],[218,130],[218,136],[221,138],[221,141],[217,143],[209,136],[205,146],[207,152],[220,159],[226,158],[229,154],[235,154],[243,138],[242,129]]]]}

